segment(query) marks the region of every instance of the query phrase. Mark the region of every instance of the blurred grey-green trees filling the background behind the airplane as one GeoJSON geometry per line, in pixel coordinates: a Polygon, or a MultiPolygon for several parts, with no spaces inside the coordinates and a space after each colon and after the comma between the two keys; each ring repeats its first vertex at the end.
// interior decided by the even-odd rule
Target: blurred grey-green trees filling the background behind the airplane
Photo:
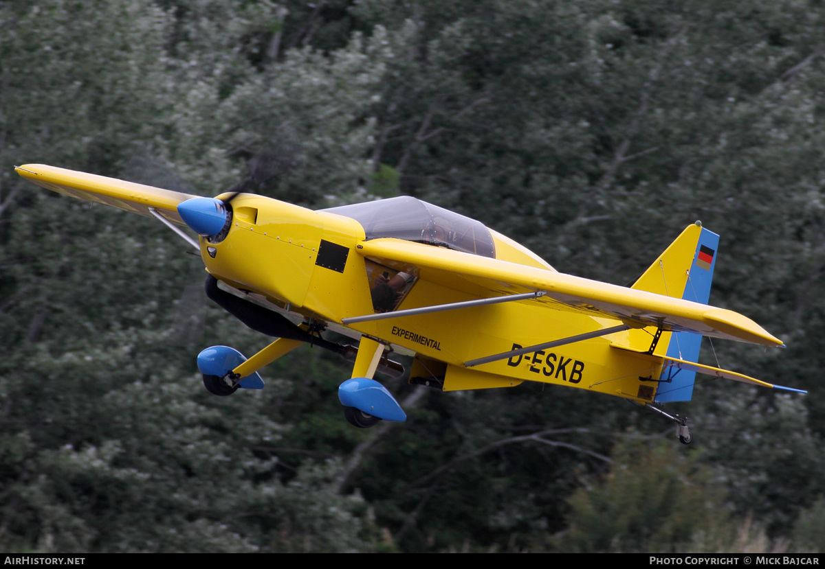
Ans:
{"type": "Polygon", "coordinates": [[[2,548],[825,550],[823,18],[818,0],[3,0],[2,548]],[[788,345],[705,341],[704,361],[810,394],[700,379],[670,405],[691,447],[540,385],[389,381],[408,422],[358,431],[347,366],[311,347],[214,398],[200,349],[267,339],[214,305],[181,332],[200,259],[27,184],[26,162],[309,208],[413,195],[620,285],[700,219],[721,235],[711,304],[788,345]]]}

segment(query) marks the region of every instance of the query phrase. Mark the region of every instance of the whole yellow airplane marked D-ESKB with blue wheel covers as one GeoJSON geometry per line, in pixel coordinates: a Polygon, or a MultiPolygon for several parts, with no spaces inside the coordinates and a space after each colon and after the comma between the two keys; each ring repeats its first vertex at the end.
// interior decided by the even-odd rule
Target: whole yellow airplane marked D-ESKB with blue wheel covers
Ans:
{"type": "Polygon", "coordinates": [[[248,360],[200,352],[206,389],[261,389],[257,371],[302,343],[354,361],[339,388],[347,420],[371,427],[406,415],[376,371],[453,391],[525,380],[639,403],[689,401],[695,374],[805,393],[698,363],[702,336],[783,346],[751,319],[707,305],[719,236],[687,226],[632,287],[559,273],[468,217],[404,196],[311,211],[254,194],[200,198],[53,166],[18,174],[46,189],[156,217],[200,251],[207,295],[277,338],[248,360]],[[178,226],[199,235],[193,240],[178,226]],[[360,342],[323,338],[334,330],[360,342]]]}

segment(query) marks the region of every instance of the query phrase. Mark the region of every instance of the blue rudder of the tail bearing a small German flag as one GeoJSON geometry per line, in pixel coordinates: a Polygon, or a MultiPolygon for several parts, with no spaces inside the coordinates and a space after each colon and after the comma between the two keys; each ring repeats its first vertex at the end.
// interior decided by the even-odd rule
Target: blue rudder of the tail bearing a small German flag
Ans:
{"type": "MultiPolygon", "coordinates": [[[[719,236],[713,231],[708,231],[704,227],[696,243],[696,250],[693,254],[691,273],[685,283],[685,291],[681,297],[686,301],[700,302],[707,304],[710,298],[710,284],[714,279],[714,268],[716,267],[717,250],[719,250],[719,236]],[[702,258],[700,251],[705,247],[702,258]],[[707,264],[702,259],[707,259],[706,251],[713,251],[713,259],[710,261],[710,268],[705,268],[707,264]]],[[[686,361],[699,361],[699,350],[702,347],[702,336],[690,332],[674,332],[671,334],[670,343],[667,345],[667,357],[677,358],[686,361]]],[[[668,401],[690,401],[693,396],[693,384],[696,378],[695,371],[682,370],[672,378],[669,384],[659,384],[654,401],[665,403],[668,401]]]]}

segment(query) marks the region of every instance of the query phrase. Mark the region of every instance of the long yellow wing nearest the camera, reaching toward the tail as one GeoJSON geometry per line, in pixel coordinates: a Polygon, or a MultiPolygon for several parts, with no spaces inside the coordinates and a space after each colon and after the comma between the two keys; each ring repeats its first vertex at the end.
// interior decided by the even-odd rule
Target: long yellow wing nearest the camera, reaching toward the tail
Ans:
{"type": "Polygon", "coordinates": [[[481,286],[489,296],[544,291],[544,296],[530,302],[550,302],[558,310],[618,319],[634,328],[661,326],[763,346],[783,345],[752,319],[733,310],[653,292],[398,239],[362,241],[356,250],[389,266],[417,270],[421,278],[450,282],[459,290],[478,291],[481,286]]]}

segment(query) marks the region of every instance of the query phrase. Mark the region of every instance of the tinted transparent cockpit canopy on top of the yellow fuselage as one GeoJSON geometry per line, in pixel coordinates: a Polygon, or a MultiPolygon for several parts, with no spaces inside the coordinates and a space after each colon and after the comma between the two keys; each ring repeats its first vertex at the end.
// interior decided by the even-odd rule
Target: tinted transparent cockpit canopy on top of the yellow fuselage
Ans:
{"type": "Polygon", "coordinates": [[[493,236],[481,222],[410,196],[320,211],[351,217],[361,223],[368,240],[395,237],[493,259],[496,257],[493,236]]]}

